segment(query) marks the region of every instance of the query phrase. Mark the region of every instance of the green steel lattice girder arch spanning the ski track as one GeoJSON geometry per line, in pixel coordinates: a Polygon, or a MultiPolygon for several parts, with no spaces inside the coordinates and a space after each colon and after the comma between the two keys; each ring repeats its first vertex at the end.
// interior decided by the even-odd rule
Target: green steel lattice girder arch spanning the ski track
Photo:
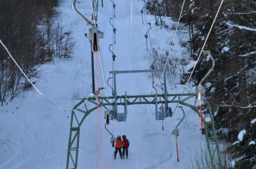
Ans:
{"type": "MultiPolygon", "coordinates": [[[[199,108],[195,105],[186,103],[190,98],[196,97],[194,93],[188,94],[167,94],[167,103],[179,103],[184,106],[188,106],[193,109],[198,116],[200,116],[199,108]]],[[[157,100],[159,104],[165,103],[164,94],[157,95],[157,100]]],[[[125,95],[116,96],[116,104],[124,105],[125,104],[125,95]]],[[[99,107],[103,106],[106,109],[109,105],[115,104],[115,97],[99,97],[99,107]]],[[[155,104],[156,95],[126,95],[127,105],[133,104],[155,104]]],[[[195,102],[196,103],[196,102],[195,102]]],[[[206,115],[203,118],[204,122],[204,131],[206,137],[206,144],[209,152],[209,157],[211,161],[211,167],[213,169],[221,168],[223,169],[221,161],[221,152],[219,148],[219,142],[214,126],[214,118],[212,116],[211,108],[209,103],[204,100],[204,108],[206,108],[206,115]]],[[[67,169],[77,169],[78,162],[78,150],[79,150],[79,134],[80,126],[82,125],[84,119],[94,110],[97,109],[97,100],[95,97],[83,98],[79,103],[77,103],[71,114],[71,123],[70,123],[70,134],[69,134],[69,143],[68,143],[68,153],[67,153],[67,169]],[[88,108],[87,104],[90,102],[92,107],[88,108]],[[83,106],[81,108],[81,106],[83,106]]]]}

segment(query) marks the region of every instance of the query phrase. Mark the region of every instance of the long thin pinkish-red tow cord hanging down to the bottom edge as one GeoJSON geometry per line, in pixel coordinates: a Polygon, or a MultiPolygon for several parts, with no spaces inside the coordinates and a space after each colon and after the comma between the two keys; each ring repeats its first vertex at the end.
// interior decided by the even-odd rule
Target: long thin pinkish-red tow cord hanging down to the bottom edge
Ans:
{"type": "MultiPolygon", "coordinates": [[[[97,46],[95,44],[95,58],[96,58],[96,86],[98,89],[98,62],[97,62],[97,46]]],[[[101,150],[100,150],[100,121],[99,121],[99,92],[96,92],[97,96],[97,115],[98,115],[98,145],[99,145],[99,168],[101,169],[101,150]]]]}

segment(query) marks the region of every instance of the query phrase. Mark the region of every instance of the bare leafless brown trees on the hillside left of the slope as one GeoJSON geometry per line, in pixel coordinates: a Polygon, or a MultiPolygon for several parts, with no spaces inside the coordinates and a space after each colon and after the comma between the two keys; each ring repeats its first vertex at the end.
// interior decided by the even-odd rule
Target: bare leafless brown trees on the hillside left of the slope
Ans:
{"type": "MultiPolygon", "coordinates": [[[[35,83],[36,65],[53,57],[69,58],[74,42],[57,19],[58,1],[0,1],[0,38],[22,70],[35,83]]],[[[5,51],[0,47],[0,103],[3,106],[31,87],[5,51]]]]}

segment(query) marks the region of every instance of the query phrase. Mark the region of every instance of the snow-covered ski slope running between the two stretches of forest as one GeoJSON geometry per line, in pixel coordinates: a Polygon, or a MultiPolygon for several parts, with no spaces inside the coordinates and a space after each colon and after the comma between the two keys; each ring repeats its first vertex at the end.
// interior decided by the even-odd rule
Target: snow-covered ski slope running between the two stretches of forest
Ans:
{"type": "MultiPolygon", "coordinates": [[[[91,93],[91,55],[90,43],[84,37],[89,26],[73,11],[71,1],[63,1],[59,10],[67,30],[72,29],[76,49],[71,59],[54,59],[54,63],[40,66],[40,78],[36,86],[56,104],[71,109],[77,101],[72,96],[87,97],[91,93]]],[[[148,69],[144,34],[146,25],[142,24],[139,1],[116,1],[117,55],[114,70],[148,69]],[[132,14],[132,15],[131,15],[132,14]],[[131,17],[132,16],[132,17],[131,17]],[[131,24],[132,23],[132,24],[131,24]]],[[[88,18],[91,17],[89,1],[79,1],[77,8],[88,18]]],[[[106,79],[112,70],[112,3],[104,1],[99,7],[98,27],[104,32],[100,40],[103,66],[106,79]]],[[[170,39],[174,31],[166,31],[154,25],[154,17],[147,15],[152,23],[151,38],[159,53],[169,50],[170,39]]],[[[176,25],[165,18],[169,25],[176,25]]],[[[145,22],[145,21],[144,21],[145,22]]],[[[149,44],[149,43],[148,43],[149,44]]],[[[151,49],[148,45],[148,49],[151,49]]],[[[175,39],[172,54],[185,57],[185,48],[181,48],[178,37],[175,39]]],[[[98,59],[99,61],[99,59],[98,59]]],[[[103,78],[98,62],[99,87],[103,87],[103,78]]],[[[123,74],[117,76],[117,94],[129,95],[155,93],[152,79],[147,74],[123,74]]],[[[175,78],[176,83],[179,77],[175,78]]],[[[169,93],[182,93],[183,86],[169,93]]],[[[108,89],[111,94],[111,90],[108,89]]],[[[158,91],[161,93],[161,91],[158,91]]],[[[104,92],[101,93],[104,96],[104,92]]],[[[191,103],[193,100],[190,100],[191,103]]],[[[170,105],[173,107],[176,104],[170,105]]],[[[123,107],[119,107],[121,112],[123,107]]],[[[0,107],[0,168],[66,168],[67,146],[71,112],[63,111],[44,98],[34,89],[24,93],[8,105],[0,107]]],[[[110,144],[110,135],[104,129],[103,112],[100,109],[101,162],[102,168],[190,168],[196,152],[205,146],[205,136],[200,133],[200,119],[193,110],[184,107],[185,119],[178,128],[179,162],[176,156],[176,142],[172,131],[182,118],[177,109],[172,118],[162,122],[155,120],[154,105],[136,105],[128,107],[126,122],[110,122],[114,135],[125,134],[130,140],[129,159],[113,160],[114,149],[110,144]]],[[[81,126],[78,168],[99,168],[98,122],[97,112],[92,112],[81,126]]]]}

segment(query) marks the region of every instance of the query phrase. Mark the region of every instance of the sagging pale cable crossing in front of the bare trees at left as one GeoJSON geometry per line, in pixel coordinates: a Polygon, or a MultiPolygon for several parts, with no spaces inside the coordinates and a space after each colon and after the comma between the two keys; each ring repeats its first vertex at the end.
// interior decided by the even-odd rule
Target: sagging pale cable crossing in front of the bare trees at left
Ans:
{"type": "MultiPolygon", "coordinates": [[[[15,63],[15,65],[18,67],[18,69],[20,70],[20,72],[22,72],[22,74],[26,77],[26,79],[29,81],[29,83],[32,85],[32,87],[42,96],[44,97],[47,101],[49,101],[51,104],[53,104],[54,106],[58,107],[59,109],[65,110],[65,111],[72,111],[74,109],[67,109],[67,108],[63,108],[57,104],[55,104],[53,101],[51,101],[47,96],[45,96],[44,94],[42,94],[39,89],[36,88],[36,86],[33,84],[33,82],[28,78],[28,76],[24,73],[24,71],[22,70],[22,68],[19,67],[19,65],[17,64],[17,62],[14,60],[14,58],[12,57],[11,53],[9,52],[9,50],[7,49],[7,47],[4,45],[4,43],[2,42],[2,40],[0,39],[0,43],[2,44],[2,46],[5,48],[5,50],[7,51],[7,53],[9,54],[10,58],[12,59],[12,61],[15,63]]],[[[89,97],[88,97],[89,98],[89,97]]]]}

